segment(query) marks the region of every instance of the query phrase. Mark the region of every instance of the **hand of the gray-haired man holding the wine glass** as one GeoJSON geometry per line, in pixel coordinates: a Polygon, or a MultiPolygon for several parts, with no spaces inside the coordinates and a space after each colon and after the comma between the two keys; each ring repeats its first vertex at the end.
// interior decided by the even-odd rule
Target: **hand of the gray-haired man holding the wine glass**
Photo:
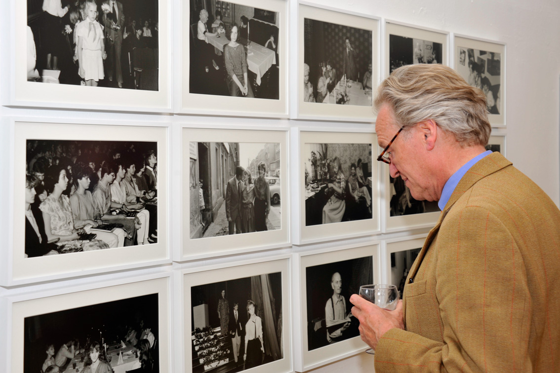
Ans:
{"type": "Polygon", "coordinates": [[[363,299],[360,295],[350,297],[352,314],[360,321],[360,336],[375,350],[377,342],[387,330],[393,328],[404,329],[403,301],[399,300],[394,311],[388,311],[363,299]]]}

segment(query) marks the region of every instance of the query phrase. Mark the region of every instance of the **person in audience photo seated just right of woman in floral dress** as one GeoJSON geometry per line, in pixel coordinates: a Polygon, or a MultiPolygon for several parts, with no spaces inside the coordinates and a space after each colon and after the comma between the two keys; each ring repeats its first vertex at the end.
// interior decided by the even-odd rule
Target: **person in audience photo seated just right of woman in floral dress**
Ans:
{"type": "MultiPolygon", "coordinates": [[[[103,224],[101,219],[95,219],[94,199],[91,192],[87,190],[90,187],[91,168],[83,163],[74,166],[74,185],[76,191],[70,196],[70,206],[72,208],[72,217],[76,228],[97,226],[103,224]]],[[[97,238],[104,241],[109,247],[124,246],[124,230],[115,228],[113,233],[96,231],[97,238]]]]}

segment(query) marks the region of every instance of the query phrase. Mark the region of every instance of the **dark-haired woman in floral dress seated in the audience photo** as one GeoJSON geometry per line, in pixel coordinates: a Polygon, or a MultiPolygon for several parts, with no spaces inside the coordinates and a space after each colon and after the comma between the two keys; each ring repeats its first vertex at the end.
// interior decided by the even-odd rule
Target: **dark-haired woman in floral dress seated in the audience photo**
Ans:
{"type": "Polygon", "coordinates": [[[98,239],[89,242],[80,240],[78,233],[83,231],[74,228],[70,201],[62,194],[67,187],[66,169],[56,165],[50,166],[45,173],[45,188],[49,196],[39,206],[43,211],[47,239],[50,241],[58,238],[57,245],[71,244],[74,247],[82,247],[83,251],[109,248],[108,244],[98,239]]]}

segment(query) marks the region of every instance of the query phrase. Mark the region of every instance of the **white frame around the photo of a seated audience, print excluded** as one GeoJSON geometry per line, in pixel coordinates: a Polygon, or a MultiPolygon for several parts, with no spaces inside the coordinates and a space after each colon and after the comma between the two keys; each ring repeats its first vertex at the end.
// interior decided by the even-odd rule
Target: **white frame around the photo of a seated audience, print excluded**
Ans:
{"type": "MultiPolygon", "coordinates": [[[[160,226],[161,224],[161,228],[163,229],[163,232],[160,233],[161,238],[158,240],[157,243],[155,244],[150,244],[146,246],[146,249],[144,249],[143,247],[140,247],[138,245],[134,245],[131,247],[122,247],[122,248],[116,248],[118,249],[118,252],[116,251],[112,251],[112,249],[106,249],[106,250],[111,250],[111,253],[108,253],[105,251],[91,251],[91,252],[83,252],[80,253],[79,256],[73,256],[71,254],[65,254],[63,257],[59,257],[59,256],[46,256],[46,257],[38,257],[38,258],[24,258],[23,255],[25,253],[25,245],[24,247],[18,249],[18,253],[21,254],[22,258],[21,259],[16,259],[15,256],[17,253],[15,253],[15,240],[17,240],[15,238],[15,234],[16,234],[16,228],[18,229],[18,232],[20,232],[20,229],[22,232],[25,231],[25,225],[20,225],[18,227],[19,224],[15,224],[14,221],[15,219],[8,219],[7,221],[7,238],[8,238],[8,243],[7,243],[7,250],[4,251],[0,251],[0,259],[2,259],[0,262],[5,263],[5,271],[0,271],[0,285],[2,286],[15,286],[15,285],[22,285],[22,284],[29,284],[30,282],[39,282],[39,281],[50,281],[50,280],[57,280],[60,278],[68,278],[68,277],[76,277],[76,276],[85,276],[85,275],[92,275],[92,274],[96,274],[96,273],[102,273],[102,272],[109,272],[109,271],[121,271],[121,270],[128,270],[128,269],[132,269],[132,268],[139,268],[139,267],[148,267],[148,266],[155,266],[155,265],[162,265],[162,264],[167,264],[171,262],[171,254],[170,254],[170,247],[171,247],[171,237],[170,237],[170,233],[171,233],[171,228],[170,228],[170,221],[171,221],[171,208],[169,206],[169,201],[170,201],[170,191],[171,191],[171,169],[172,166],[170,164],[171,162],[171,141],[170,141],[170,136],[171,136],[171,130],[169,128],[170,124],[166,123],[166,122],[150,122],[150,121],[119,121],[119,120],[114,120],[114,121],[109,121],[109,120],[92,120],[92,119],[67,119],[67,118],[44,118],[44,119],[38,119],[36,117],[17,117],[17,116],[12,116],[8,118],[9,124],[8,126],[6,126],[6,130],[4,131],[7,134],[7,139],[10,143],[9,147],[8,147],[8,151],[7,151],[7,158],[8,158],[8,180],[9,183],[8,185],[10,185],[10,187],[7,188],[8,191],[8,201],[11,201],[7,207],[7,216],[13,217],[16,213],[16,200],[21,200],[23,202],[23,198],[24,196],[22,195],[22,193],[24,193],[24,191],[18,190],[16,189],[16,187],[22,187],[25,186],[25,169],[22,170],[16,170],[16,158],[19,155],[20,157],[23,157],[23,160],[20,160],[20,162],[23,162],[25,165],[25,147],[22,149],[15,149],[15,141],[13,140],[17,140],[16,139],[16,135],[17,135],[17,129],[16,127],[18,126],[18,123],[22,124],[22,125],[33,125],[33,126],[41,126],[44,125],[45,126],[45,130],[47,129],[46,126],[48,126],[48,130],[53,130],[53,126],[56,125],[68,125],[68,126],[76,126],[76,129],[72,130],[71,134],[67,134],[66,132],[58,132],[58,134],[56,133],[56,131],[53,133],[52,138],[53,139],[69,139],[71,138],[72,135],[76,134],[77,132],[79,132],[80,130],[84,129],[85,125],[95,125],[95,126],[101,126],[101,125],[105,125],[108,126],[108,129],[111,130],[112,128],[115,127],[119,127],[121,129],[124,129],[127,126],[135,126],[137,128],[154,128],[154,129],[165,129],[165,134],[161,135],[161,141],[165,141],[164,144],[158,144],[158,148],[163,145],[164,147],[167,147],[166,149],[163,148],[161,151],[158,150],[158,157],[160,157],[160,159],[162,159],[162,163],[166,163],[167,167],[164,169],[160,170],[160,175],[162,176],[162,180],[167,180],[167,188],[165,189],[161,189],[158,191],[158,201],[162,201],[161,202],[161,206],[162,206],[162,211],[164,211],[164,214],[161,214],[161,218],[158,218],[158,226],[160,226]],[[57,135],[57,137],[55,138],[55,135],[57,135]],[[11,140],[11,141],[10,141],[11,140]],[[16,154],[17,152],[17,154],[16,154]],[[162,172],[163,171],[163,172],[162,172]],[[16,175],[19,175],[22,177],[22,181],[20,183],[17,183],[16,185],[16,175]],[[167,235],[167,238],[165,237],[167,235]],[[136,257],[138,256],[141,252],[143,252],[144,256],[147,255],[146,259],[143,260],[137,260],[135,262],[130,262],[130,257],[136,257]],[[153,253],[152,253],[153,252],[153,253]],[[85,254],[85,255],[84,255],[85,254]],[[118,254],[118,258],[117,261],[120,261],[120,264],[116,264],[114,266],[108,266],[107,264],[107,258],[109,255],[115,255],[118,254]],[[66,256],[70,255],[68,258],[66,258],[66,256]],[[88,261],[86,258],[89,257],[90,261],[88,261]],[[60,262],[60,259],[63,259],[62,263],[60,262]],[[91,259],[95,259],[95,261],[92,263],[91,259]],[[26,262],[26,261],[34,261],[37,262],[37,265],[35,265],[35,267],[43,268],[46,270],[43,271],[39,271],[39,274],[36,275],[35,271],[30,271],[28,270],[24,270],[24,267],[27,267],[29,265],[30,262],[26,262]],[[105,260],[105,262],[104,262],[105,260]],[[54,261],[57,261],[58,264],[57,266],[59,266],[59,268],[68,268],[71,267],[73,268],[72,270],[63,270],[60,269],[57,271],[49,271],[48,267],[49,267],[49,263],[53,263],[54,261]],[[21,262],[18,263],[18,262],[21,262]],[[40,262],[40,263],[39,263],[40,262]],[[80,267],[80,263],[86,263],[88,262],[88,266],[87,268],[80,267]],[[78,264],[78,266],[77,266],[78,264]],[[83,268],[83,269],[81,269],[83,268]]],[[[22,138],[25,137],[29,137],[26,136],[25,134],[20,134],[20,136],[22,138]]],[[[30,135],[32,136],[32,135],[30,135]]],[[[108,138],[109,135],[100,135],[100,138],[106,137],[108,138]]],[[[141,139],[141,136],[138,136],[139,140],[138,141],[146,141],[146,139],[141,139]]],[[[24,139],[20,139],[22,141],[24,141],[24,139]]],[[[111,141],[111,139],[107,139],[104,141],[111,141]]],[[[149,141],[149,140],[148,140],[149,141]]],[[[160,210],[160,205],[158,205],[158,211],[160,210]]],[[[23,207],[23,205],[22,205],[23,207]]],[[[19,210],[17,210],[19,211],[19,210]]],[[[23,210],[21,210],[22,212],[23,210]]],[[[18,216],[21,215],[18,213],[18,216]]],[[[21,215],[21,222],[23,222],[24,220],[24,216],[21,215]]],[[[20,220],[17,220],[20,221],[20,220]]],[[[25,235],[24,235],[25,237],[25,235]]],[[[115,261],[115,259],[113,258],[111,261],[115,261]]]]}

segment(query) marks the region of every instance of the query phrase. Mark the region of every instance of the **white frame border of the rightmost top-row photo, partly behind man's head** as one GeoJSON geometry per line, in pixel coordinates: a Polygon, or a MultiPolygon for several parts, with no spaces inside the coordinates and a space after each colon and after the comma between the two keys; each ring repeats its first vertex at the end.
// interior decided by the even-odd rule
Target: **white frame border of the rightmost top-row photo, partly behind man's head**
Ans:
{"type": "Polygon", "coordinates": [[[506,83],[507,83],[507,45],[503,41],[496,41],[496,40],[489,40],[483,39],[481,37],[473,37],[467,36],[463,34],[452,34],[450,38],[452,40],[450,51],[450,66],[457,71],[457,63],[459,61],[458,58],[458,50],[459,47],[458,41],[465,40],[468,43],[468,46],[464,46],[463,48],[473,48],[478,50],[486,50],[487,52],[494,52],[500,53],[500,100],[502,105],[502,114],[488,114],[488,120],[492,127],[496,128],[504,128],[506,127],[506,108],[507,108],[507,101],[506,101],[506,83]],[[458,40],[459,39],[459,40],[458,40]],[[498,50],[499,49],[499,50],[498,50]]]}

